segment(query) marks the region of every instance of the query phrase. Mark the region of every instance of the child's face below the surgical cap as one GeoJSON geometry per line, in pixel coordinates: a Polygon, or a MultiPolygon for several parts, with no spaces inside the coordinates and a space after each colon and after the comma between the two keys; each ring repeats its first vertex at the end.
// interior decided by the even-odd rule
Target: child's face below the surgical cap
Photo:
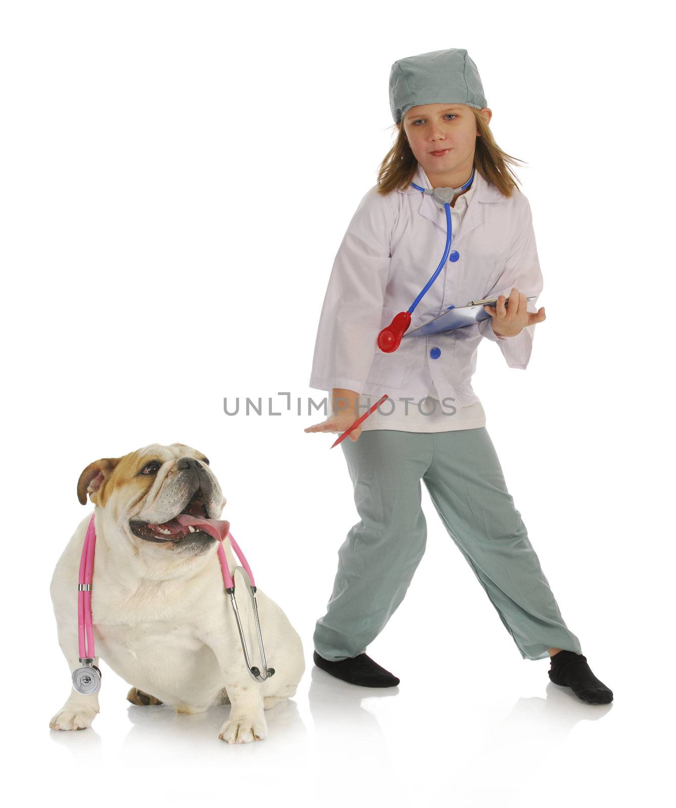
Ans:
{"type": "MultiPolygon", "coordinates": [[[[488,107],[480,111],[491,120],[488,107]]],[[[400,125],[416,160],[429,175],[437,172],[471,170],[476,146],[476,120],[471,107],[463,103],[426,103],[411,107],[400,125]],[[450,149],[442,157],[431,152],[450,149]]]]}

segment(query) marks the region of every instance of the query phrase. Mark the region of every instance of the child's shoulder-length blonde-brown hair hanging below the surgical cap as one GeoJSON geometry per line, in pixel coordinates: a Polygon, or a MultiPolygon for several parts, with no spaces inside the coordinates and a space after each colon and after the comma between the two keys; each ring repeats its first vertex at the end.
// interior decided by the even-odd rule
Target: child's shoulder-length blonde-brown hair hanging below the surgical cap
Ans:
{"type": "MultiPolygon", "coordinates": [[[[524,161],[506,154],[496,144],[484,116],[481,116],[475,107],[469,108],[474,112],[476,128],[481,135],[479,137],[477,134],[476,137],[475,169],[509,199],[515,190],[518,191],[517,182],[521,183],[521,180],[509,168],[508,163],[516,165],[518,162],[524,163],[524,161]]],[[[402,191],[408,188],[418,167],[418,162],[408,144],[403,123],[399,126],[393,124],[393,128],[398,129],[395,145],[387,152],[378,170],[378,193],[382,196],[399,188],[402,191]]],[[[527,163],[524,164],[527,165],[527,163]]]]}

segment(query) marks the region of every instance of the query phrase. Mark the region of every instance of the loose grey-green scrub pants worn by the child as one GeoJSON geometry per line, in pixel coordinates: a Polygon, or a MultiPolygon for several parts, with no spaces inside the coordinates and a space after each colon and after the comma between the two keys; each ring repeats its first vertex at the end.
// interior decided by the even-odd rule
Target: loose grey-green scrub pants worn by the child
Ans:
{"type": "Polygon", "coordinates": [[[403,600],[425,553],[421,479],[523,659],[545,659],[549,648],[581,654],[505,486],[486,427],[374,429],[340,445],[361,521],[338,550],[331,600],[313,637],[320,656],[337,661],[364,653],[403,600]]]}

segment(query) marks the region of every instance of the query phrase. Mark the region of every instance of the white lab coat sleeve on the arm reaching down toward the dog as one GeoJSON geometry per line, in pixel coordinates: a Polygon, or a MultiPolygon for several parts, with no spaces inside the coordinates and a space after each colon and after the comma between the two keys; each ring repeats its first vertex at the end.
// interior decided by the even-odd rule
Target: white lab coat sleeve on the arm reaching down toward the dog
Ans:
{"type": "Polygon", "coordinates": [[[334,259],[315,339],[310,386],[361,393],[381,328],[395,224],[391,194],[362,197],[334,259]]]}

